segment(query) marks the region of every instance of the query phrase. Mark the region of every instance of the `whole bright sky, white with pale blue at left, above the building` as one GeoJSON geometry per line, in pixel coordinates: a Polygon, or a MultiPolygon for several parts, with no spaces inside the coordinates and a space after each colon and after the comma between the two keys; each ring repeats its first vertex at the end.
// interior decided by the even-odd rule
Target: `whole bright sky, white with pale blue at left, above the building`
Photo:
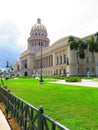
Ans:
{"type": "Polygon", "coordinates": [[[0,0],[0,67],[26,50],[38,17],[50,45],[68,35],[84,37],[98,31],[98,0],[0,0]]]}

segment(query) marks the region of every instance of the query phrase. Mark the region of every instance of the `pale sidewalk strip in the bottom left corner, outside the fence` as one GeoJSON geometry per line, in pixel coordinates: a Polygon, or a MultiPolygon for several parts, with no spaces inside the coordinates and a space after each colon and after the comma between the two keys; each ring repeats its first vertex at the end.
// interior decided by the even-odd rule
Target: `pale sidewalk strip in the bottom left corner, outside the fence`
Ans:
{"type": "Polygon", "coordinates": [[[0,110],[0,130],[11,130],[11,128],[1,110],[0,110]]]}

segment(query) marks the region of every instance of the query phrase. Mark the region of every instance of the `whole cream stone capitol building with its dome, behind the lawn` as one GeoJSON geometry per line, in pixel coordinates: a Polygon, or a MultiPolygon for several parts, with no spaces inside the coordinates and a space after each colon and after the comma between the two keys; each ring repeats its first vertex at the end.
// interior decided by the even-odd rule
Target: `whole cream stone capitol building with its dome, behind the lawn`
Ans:
{"type": "MultiPolygon", "coordinates": [[[[41,71],[43,75],[87,75],[89,70],[90,75],[97,76],[98,54],[95,54],[95,62],[92,63],[92,54],[86,50],[85,58],[79,58],[77,71],[76,55],[74,50],[70,50],[69,37],[63,37],[50,46],[47,29],[38,18],[27,39],[27,50],[20,54],[19,61],[14,64],[15,75],[40,76],[41,71]]],[[[89,37],[82,39],[87,40],[89,37]]]]}

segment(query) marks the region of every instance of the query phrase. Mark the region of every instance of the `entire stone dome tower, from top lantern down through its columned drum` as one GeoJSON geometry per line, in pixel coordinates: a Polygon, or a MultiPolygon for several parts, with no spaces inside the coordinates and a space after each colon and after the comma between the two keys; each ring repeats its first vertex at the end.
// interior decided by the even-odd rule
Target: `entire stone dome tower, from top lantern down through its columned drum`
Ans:
{"type": "Polygon", "coordinates": [[[27,39],[28,48],[36,53],[41,47],[48,47],[50,40],[47,35],[45,26],[41,24],[41,19],[38,18],[37,23],[31,28],[30,37],[27,39]]]}

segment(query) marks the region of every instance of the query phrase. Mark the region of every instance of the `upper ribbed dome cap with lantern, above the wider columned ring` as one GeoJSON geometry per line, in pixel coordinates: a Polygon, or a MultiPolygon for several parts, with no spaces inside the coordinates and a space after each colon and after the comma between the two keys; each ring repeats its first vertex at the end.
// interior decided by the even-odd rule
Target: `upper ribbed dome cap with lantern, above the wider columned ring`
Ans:
{"type": "Polygon", "coordinates": [[[30,32],[30,36],[31,37],[47,37],[47,30],[46,27],[41,24],[41,19],[38,18],[37,19],[37,23],[35,25],[33,25],[31,32],[30,32]]]}

